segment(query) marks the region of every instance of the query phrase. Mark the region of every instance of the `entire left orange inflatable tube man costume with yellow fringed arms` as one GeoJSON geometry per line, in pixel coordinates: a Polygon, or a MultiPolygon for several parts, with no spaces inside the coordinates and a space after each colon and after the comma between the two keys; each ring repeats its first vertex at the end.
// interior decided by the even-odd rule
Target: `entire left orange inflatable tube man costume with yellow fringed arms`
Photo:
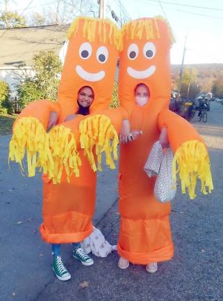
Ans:
{"type": "Polygon", "coordinates": [[[69,45],[58,88],[58,101],[38,100],[28,105],[15,123],[9,159],[19,162],[26,151],[28,175],[43,172],[42,239],[50,243],[79,242],[92,232],[96,173],[101,155],[115,168],[117,132],[124,109],[108,109],[117,56],[122,47],[119,29],[108,20],[79,17],[68,31],[69,45]],[[94,91],[90,115],[65,122],[78,110],[83,86],[94,91]],[[58,125],[46,132],[51,111],[58,125]]]}

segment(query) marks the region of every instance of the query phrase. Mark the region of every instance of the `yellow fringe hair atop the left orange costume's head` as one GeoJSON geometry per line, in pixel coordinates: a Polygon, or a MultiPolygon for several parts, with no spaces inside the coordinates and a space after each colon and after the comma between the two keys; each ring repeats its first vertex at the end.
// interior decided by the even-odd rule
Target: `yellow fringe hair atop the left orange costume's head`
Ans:
{"type": "Polygon", "coordinates": [[[67,31],[67,38],[72,35],[76,36],[79,31],[80,21],[83,20],[83,38],[89,40],[90,43],[94,42],[95,38],[99,36],[99,40],[104,43],[115,45],[118,51],[122,51],[122,34],[121,30],[108,19],[95,19],[92,17],[77,17],[74,22],[69,26],[67,31]]]}

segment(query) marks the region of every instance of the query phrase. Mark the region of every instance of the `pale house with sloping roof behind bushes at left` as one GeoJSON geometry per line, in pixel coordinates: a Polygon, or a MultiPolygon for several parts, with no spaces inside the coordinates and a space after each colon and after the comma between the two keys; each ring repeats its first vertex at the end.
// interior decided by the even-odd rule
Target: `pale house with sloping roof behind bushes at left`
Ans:
{"type": "Polygon", "coordinates": [[[9,84],[12,98],[17,95],[15,84],[34,75],[35,54],[53,50],[64,62],[68,28],[69,24],[0,30],[0,80],[9,84]]]}

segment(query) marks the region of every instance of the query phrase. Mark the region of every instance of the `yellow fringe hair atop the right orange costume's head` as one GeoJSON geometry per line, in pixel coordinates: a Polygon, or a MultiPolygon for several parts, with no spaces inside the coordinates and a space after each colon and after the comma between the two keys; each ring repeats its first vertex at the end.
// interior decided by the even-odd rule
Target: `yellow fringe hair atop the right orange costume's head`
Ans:
{"type": "Polygon", "coordinates": [[[171,45],[174,44],[174,36],[172,34],[172,30],[170,24],[161,16],[153,17],[153,18],[144,18],[140,20],[133,20],[129,23],[124,24],[122,26],[122,35],[125,36],[127,39],[142,39],[143,31],[149,39],[160,39],[160,30],[158,26],[158,20],[165,22],[167,24],[167,30],[170,37],[171,45]]]}

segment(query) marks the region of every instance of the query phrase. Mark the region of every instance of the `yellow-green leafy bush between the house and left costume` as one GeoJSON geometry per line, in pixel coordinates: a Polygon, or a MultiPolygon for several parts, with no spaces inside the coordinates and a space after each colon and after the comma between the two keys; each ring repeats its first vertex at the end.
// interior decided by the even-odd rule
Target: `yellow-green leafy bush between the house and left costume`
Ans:
{"type": "Polygon", "coordinates": [[[17,87],[20,109],[33,100],[56,100],[58,74],[62,70],[59,57],[53,51],[42,51],[33,57],[33,70],[35,76],[26,77],[24,82],[17,87]]]}

